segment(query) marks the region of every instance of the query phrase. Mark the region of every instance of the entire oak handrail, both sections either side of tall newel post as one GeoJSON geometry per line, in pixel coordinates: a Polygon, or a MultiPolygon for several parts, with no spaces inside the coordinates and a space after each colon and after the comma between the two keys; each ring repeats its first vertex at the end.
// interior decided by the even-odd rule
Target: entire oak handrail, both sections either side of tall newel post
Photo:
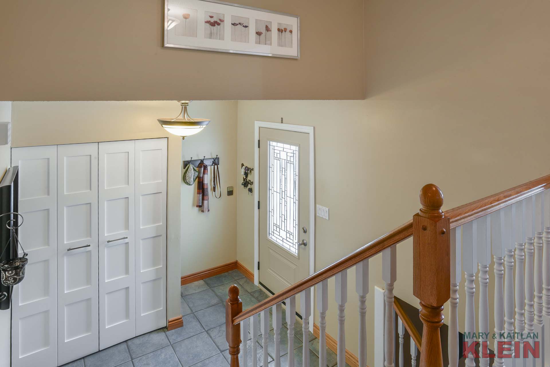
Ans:
{"type": "MultiPolygon", "coordinates": [[[[469,202],[468,204],[445,210],[444,215],[445,217],[450,218],[450,227],[456,228],[467,222],[502,209],[505,206],[514,204],[514,202],[521,201],[531,195],[540,193],[546,189],[550,189],[550,174],[531,180],[511,189],[500,191],[497,194],[489,195],[485,198],[469,202]]],[[[293,284],[272,297],[263,300],[259,304],[252,306],[248,310],[243,311],[233,319],[233,325],[237,325],[239,322],[248,319],[248,317],[254,316],[260,311],[265,310],[277,303],[283,302],[285,299],[299,294],[305,289],[311,288],[317,283],[331,278],[337,273],[349,269],[351,266],[354,266],[365,259],[371,258],[372,256],[380,253],[382,250],[403,242],[411,236],[412,221],[408,221],[401,224],[401,226],[395,228],[393,231],[390,231],[382,235],[382,237],[379,237],[364,245],[360,249],[355,250],[353,253],[345,256],[345,258],[333,262],[333,264],[324,267],[324,269],[317,271],[316,273],[313,273],[304,280],[293,284]]]]}

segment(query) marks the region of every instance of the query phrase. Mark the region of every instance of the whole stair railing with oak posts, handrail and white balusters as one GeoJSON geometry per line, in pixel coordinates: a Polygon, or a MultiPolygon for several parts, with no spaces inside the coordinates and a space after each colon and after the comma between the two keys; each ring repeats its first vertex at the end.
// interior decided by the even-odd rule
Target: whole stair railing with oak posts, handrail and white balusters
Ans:
{"type": "MultiPolygon", "coordinates": [[[[474,310],[474,265],[477,266],[475,260],[477,260],[477,250],[486,250],[487,245],[477,246],[477,243],[482,243],[482,229],[483,223],[485,228],[487,227],[489,218],[494,213],[499,213],[502,218],[507,218],[508,209],[511,206],[514,208],[514,204],[519,203],[519,207],[526,207],[526,202],[531,199],[531,196],[542,193],[543,190],[550,188],[550,175],[541,177],[539,179],[527,182],[519,185],[518,187],[502,191],[501,193],[488,196],[480,200],[476,200],[466,205],[455,207],[443,213],[441,207],[443,206],[443,194],[436,185],[428,184],[422,188],[420,192],[421,209],[416,213],[412,221],[404,223],[393,231],[383,235],[382,237],[374,240],[373,242],[361,247],[353,253],[345,256],[345,258],[334,262],[332,265],[325,267],[324,269],[317,271],[313,275],[305,278],[304,280],[293,284],[292,286],[284,289],[272,297],[263,300],[259,304],[252,306],[248,310],[242,310],[242,303],[239,298],[239,288],[235,285],[229,287],[229,298],[226,301],[226,339],[229,346],[230,366],[238,367],[240,363],[244,366],[249,365],[248,361],[251,360],[251,365],[257,367],[256,360],[256,339],[260,333],[262,333],[262,353],[263,353],[263,366],[268,365],[268,333],[270,332],[270,308],[272,309],[272,325],[274,333],[274,348],[273,364],[275,367],[281,366],[281,329],[282,329],[282,303],[286,305],[286,321],[288,323],[288,355],[287,365],[294,367],[294,321],[295,321],[295,306],[296,297],[300,297],[300,314],[303,318],[303,348],[302,355],[304,367],[309,367],[309,317],[311,315],[311,297],[312,288],[317,287],[317,309],[320,313],[319,328],[320,328],[320,366],[326,366],[326,312],[328,309],[328,279],[334,277],[335,279],[335,294],[334,299],[338,306],[338,338],[337,338],[337,358],[338,366],[345,366],[345,304],[348,297],[348,283],[347,272],[351,267],[355,267],[356,273],[356,293],[359,298],[359,366],[366,366],[366,349],[367,349],[367,337],[366,337],[366,325],[365,325],[365,313],[366,313],[366,294],[368,293],[368,260],[379,253],[382,253],[382,278],[385,283],[384,289],[384,303],[385,315],[384,315],[384,361],[385,367],[394,367],[395,356],[395,325],[394,325],[394,295],[393,288],[394,283],[397,280],[397,244],[403,242],[403,240],[413,237],[413,289],[412,293],[420,300],[420,319],[423,324],[422,339],[421,342],[415,342],[415,345],[420,350],[420,367],[443,367],[442,358],[442,346],[441,338],[439,335],[439,328],[443,325],[443,305],[447,300],[450,302],[450,321],[449,321],[449,361],[451,366],[458,364],[458,293],[457,289],[460,284],[460,270],[464,270],[466,273],[466,325],[465,332],[475,331],[475,310],[474,310]],[[527,198],[529,200],[525,201],[527,198]],[[522,204],[525,201],[525,204],[522,204]],[[475,224],[474,224],[475,223],[475,224]],[[476,226],[476,232],[474,232],[474,225],[476,226]],[[471,227],[471,229],[470,229],[471,227]],[[460,231],[457,229],[459,228],[460,231]],[[476,234],[474,236],[474,233],[476,234]],[[471,241],[470,241],[471,240],[471,241]],[[475,242],[475,246],[473,245],[475,242]],[[472,244],[470,244],[470,242],[472,244]],[[251,357],[249,358],[249,350],[246,341],[250,336],[252,337],[251,343],[251,357]],[[241,337],[244,337],[244,342],[241,341],[241,337]],[[243,353],[240,353],[241,346],[243,353]],[[239,363],[239,360],[241,362],[239,363]]],[[[536,205],[536,204],[533,204],[536,205]]],[[[542,205],[542,204],[541,204],[542,205]]],[[[526,212],[525,210],[521,213],[526,212]]],[[[514,210],[514,218],[516,222],[521,222],[521,216],[519,216],[518,206],[514,210]]],[[[491,222],[492,223],[492,222],[491,222]]],[[[511,226],[511,222],[510,222],[511,226]]],[[[504,226],[504,228],[507,228],[504,226]]],[[[514,227],[515,228],[515,227],[514,227]]],[[[522,227],[521,227],[522,228],[522,227]]],[[[537,227],[540,229],[540,227],[537,227]]],[[[516,257],[522,256],[522,239],[520,238],[520,227],[513,230],[516,235],[516,257]],[[519,231],[519,232],[518,232],[519,231]]],[[[541,233],[540,231],[537,233],[541,233]]],[[[491,232],[492,234],[492,232],[491,232]]],[[[525,237],[525,236],[523,236],[525,237]]],[[[542,235],[540,236],[542,237],[542,235]]],[[[548,278],[548,281],[534,280],[535,288],[535,325],[538,325],[539,319],[550,320],[550,225],[545,228],[544,238],[548,238],[545,244],[548,244],[548,250],[544,253],[544,264],[547,265],[543,269],[548,269],[543,272],[544,279],[548,278]],[[539,283],[544,283],[544,291],[541,289],[539,283]],[[548,291],[548,292],[546,292],[548,291]],[[537,293],[539,292],[539,293],[537,293]],[[540,304],[542,294],[544,295],[544,305],[541,309],[540,304]],[[537,310],[541,310],[540,312],[537,310]],[[546,311],[548,311],[546,313],[546,311]],[[537,314],[538,313],[538,314],[537,314]],[[538,317],[538,318],[537,318],[538,317]]],[[[487,243],[487,229],[485,232],[485,243],[487,243]]],[[[503,237],[504,238],[504,237],[503,237]]],[[[511,236],[510,236],[511,238],[511,236]]],[[[492,238],[491,238],[492,240],[492,238]]],[[[489,241],[490,242],[490,241],[489,241]]],[[[493,241],[494,242],[494,241],[493,241]]],[[[536,240],[535,240],[536,242],[536,240]]],[[[504,243],[504,242],[503,242],[504,243]]],[[[537,245],[535,244],[535,247],[537,245]]],[[[497,247],[497,246],[495,246],[497,247]]],[[[546,247],[545,247],[546,248],[546,247]]],[[[508,250],[507,266],[509,266],[511,254],[508,250]]],[[[493,251],[494,253],[494,251],[493,251]]],[[[503,254],[503,253],[502,253],[503,254]]],[[[502,254],[497,254],[496,259],[502,260],[502,254]]],[[[513,253],[512,253],[513,254],[513,253]]],[[[483,258],[480,262],[480,269],[482,270],[482,314],[480,320],[480,329],[488,331],[488,312],[486,311],[486,273],[487,273],[487,257],[483,258]]],[[[522,261],[522,260],[521,260],[522,261]]],[[[537,258],[537,261],[538,258],[537,258]]],[[[513,260],[511,260],[513,264],[513,260]]],[[[498,264],[498,262],[497,262],[498,264]]],[[[535,262],[537,266],[538,262],[535,262]]],[[[541,265],[538,265],[540,269],[541,265]]],[[[498,268],[498,266],[497,266],[498,268]]],[[[519,269],[517,267],[516,269],[519,269]]],[[[521,268],[522,269],[522,268],[521,268]]],[[[497,273],[497,269],[495,270],[497,273]]],[[[519,270],[516,271],[516,278],[518,277],[519,270]]],[[[499,270],[500,274],[500,270],[499,270]]],[[[505,317],[506,322],[505,330],[514,330],[513,328],[513,310],[510,313],[510,299],[511,308],[513,309],[514,299],[510,298],[510,285],[513,281],[510,281],[511,270],[507,269],[507,304],[505,304],[505,317]],[[508,305],[508,306],[507,306],[508,305]]],[[[520,297],[518,294],[522,294],[524,291],[523,286],[518,283],[523,282],[523,276],[520,277],[520,281],[516,281],[516,331],[522,331],[522,315],[525,313],[521,302],[518,302],[520,297]]],[[[497,279],[498,283],[498,279],[497,279]]],[[[513,287],[513,286],[512,286],[513,287]]],[[[513,288],[511,288],[513,291],[513,288]]],[[[496,292],[498,293],[498,292],[496,292]]],[[[498,294],[496,295],[496,298],[498,294]]],[[[528,297],[527,297],[528,298],[528,297]]],[[[499,301],[495,305],[495,319],[497,319],[497,305],[502,305],[499,301]]],[[[530,309],[530,305],[527,307],[530,309]]],[[[528,314],[528,324],[531,327],[530,311],[528,314]]],[[[500,316],[498,316],[500,320],[500,316]]],[[[403,321],[402,319],[398,319],[403,321]]],[[[399,321],[398,321],[399,322],[399,321]]],[[[549,321],[550,322],[550,321],[549,321]]],[[[497,327],[500,324],[497,324],[497,327]]],[[[541,324],[542,325],[542,324],[541,324]]],[[[542,327],[542,326],[541,326],[542,327]]],[[[550,331],[550,325],[547,328],[550,331]]],[[[550,338],[549,338],[550,340],[550,338]]],[[[497,343],[495,341],[495,343],[497,343]]],[[[416,351],[415,351],[416,352],[416,351]]],[[[471,364],[473,359],[466,360],[466,366],[473,366],[471,364]]],[[[481,364],[483,365],[483,364],[481,364]]],[[[487,364],[488,365],[488,364],[487,364]]],[[[497,364],[498,365],[498,364],[497,364]]],[[[379,366],[376,366],[379,367],[379,366]]]]}

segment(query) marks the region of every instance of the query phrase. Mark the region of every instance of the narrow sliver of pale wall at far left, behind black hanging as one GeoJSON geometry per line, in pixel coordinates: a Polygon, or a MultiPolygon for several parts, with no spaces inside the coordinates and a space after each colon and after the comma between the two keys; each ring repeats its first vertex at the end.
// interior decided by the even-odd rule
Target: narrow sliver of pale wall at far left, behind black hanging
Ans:
{"type": "MultiPolygon", "coordinates": [[[[0,101],[0,121],[6,122],[12,120],[12,102],[0,101]]],[[[11,166],[10,144],[0,145],[0,180],[4,177],[5,170],[11,166]]],[[[10,310],[0,311],[0,325],[3,332],[0,333],[0,367],[9,366],[10,356],[10,333],[7,332],[10,324],[10,310]]]]}

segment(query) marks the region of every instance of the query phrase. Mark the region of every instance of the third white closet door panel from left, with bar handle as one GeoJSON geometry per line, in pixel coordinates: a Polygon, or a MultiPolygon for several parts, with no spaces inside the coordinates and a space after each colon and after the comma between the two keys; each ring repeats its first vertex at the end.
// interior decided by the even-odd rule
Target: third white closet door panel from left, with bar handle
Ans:
{"type": "Polygon", "coordinates": [[[100,349],[136,335],[134,145],[99,144],[100,349]]]}

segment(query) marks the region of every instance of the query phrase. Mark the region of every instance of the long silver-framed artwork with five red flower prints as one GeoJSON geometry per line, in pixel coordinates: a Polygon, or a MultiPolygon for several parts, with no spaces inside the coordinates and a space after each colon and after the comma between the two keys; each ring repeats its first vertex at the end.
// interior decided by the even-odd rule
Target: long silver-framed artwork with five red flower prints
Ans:
{"type": "Polygon", "coordinates": [[[164,0],[164,47],[300,58],[300,17],[216,0],[164,0]]]}

